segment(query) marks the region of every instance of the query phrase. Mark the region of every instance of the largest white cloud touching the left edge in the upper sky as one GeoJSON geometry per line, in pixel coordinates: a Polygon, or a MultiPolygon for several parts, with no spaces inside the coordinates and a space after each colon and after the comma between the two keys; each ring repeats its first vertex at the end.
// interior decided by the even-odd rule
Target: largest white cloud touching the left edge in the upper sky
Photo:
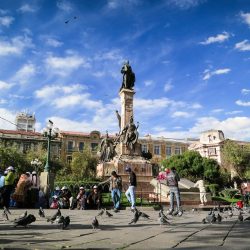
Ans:
{"type": "Polygon", "coordinates": [[[32,40],[27,36],[16,36],[10,41],[0,41],[0,56],[20,55],[26,48],[33,47],[32,40]]]}

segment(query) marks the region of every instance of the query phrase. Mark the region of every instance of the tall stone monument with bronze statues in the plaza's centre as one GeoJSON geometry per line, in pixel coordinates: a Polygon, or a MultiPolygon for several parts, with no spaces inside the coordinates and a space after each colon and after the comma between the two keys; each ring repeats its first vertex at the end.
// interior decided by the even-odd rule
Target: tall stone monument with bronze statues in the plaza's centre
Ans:
{"type": "Polygon", "coordinates": [[[115,170],[117,174],[122,176],[124,188],[128,182],[128,174],[125,167],[130,166],[137,175],[138,188],[149,191],[152,186],[150,181],[153,178],[152,165],[150,161],[142,157],[141,145],[138,143],[138,127],[139,123],[134,123],[134,83],[135,74],[132,71],[129,62],[125,62],[121,73],[123,75],[122,86],[120,88],[121,114],[116,110],[120,131],[116,137],[111,140],[108,135],[102,140],[101,150],[99,152],[100,163],[97,166],[97,177],[110,176],[115,170]],[[107,143],[105,143],[105,140],[107,143]],[[106,146],[103,146],[106,145],[106,146]],[[107,146],[109,145],[109,146],[107,146]],[[106,154],[106,151],[109,153],[106,154]],[[102,157],[109,155],[110,157],[102,157]]]}

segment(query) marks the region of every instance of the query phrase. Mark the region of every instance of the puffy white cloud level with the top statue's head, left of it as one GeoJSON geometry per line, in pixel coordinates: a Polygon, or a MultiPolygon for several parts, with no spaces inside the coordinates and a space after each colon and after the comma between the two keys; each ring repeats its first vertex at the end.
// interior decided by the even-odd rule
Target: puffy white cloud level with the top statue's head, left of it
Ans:
{"type": "Polygon", "coordinates": [[[52,74],[55,73],[60,76],[67,76],[80,67],[90,67],[87,60],[78,55],[69,55],[66,57],[56,57],[50,55],[44,60],[44,63],[48,71],[52,74]]]}

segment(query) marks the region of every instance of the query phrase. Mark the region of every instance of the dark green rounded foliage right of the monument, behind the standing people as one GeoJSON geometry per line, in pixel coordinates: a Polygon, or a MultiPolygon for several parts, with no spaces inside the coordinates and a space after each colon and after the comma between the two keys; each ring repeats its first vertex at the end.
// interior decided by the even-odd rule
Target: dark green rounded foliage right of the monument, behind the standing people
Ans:
{"type": "Polygon", "coordinates": [[[175,167],[181,177],[196,181],[204,178],[215,183],[221,178],[220,166],[216,160],[202,157],[198,152],[186,151],[162,161],[165,168],[175,167]]]}

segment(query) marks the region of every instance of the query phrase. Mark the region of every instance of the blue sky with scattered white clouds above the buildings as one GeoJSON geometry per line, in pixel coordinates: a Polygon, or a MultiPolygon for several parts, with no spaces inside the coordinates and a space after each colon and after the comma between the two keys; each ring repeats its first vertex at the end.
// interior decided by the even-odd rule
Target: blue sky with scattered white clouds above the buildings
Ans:
{"type": "Polygon", "coordinates": [[[129,60],[141,136],[249,140],[249,36],[246,0],[2,0],[0,116],[117,132],[129,60]]]}

